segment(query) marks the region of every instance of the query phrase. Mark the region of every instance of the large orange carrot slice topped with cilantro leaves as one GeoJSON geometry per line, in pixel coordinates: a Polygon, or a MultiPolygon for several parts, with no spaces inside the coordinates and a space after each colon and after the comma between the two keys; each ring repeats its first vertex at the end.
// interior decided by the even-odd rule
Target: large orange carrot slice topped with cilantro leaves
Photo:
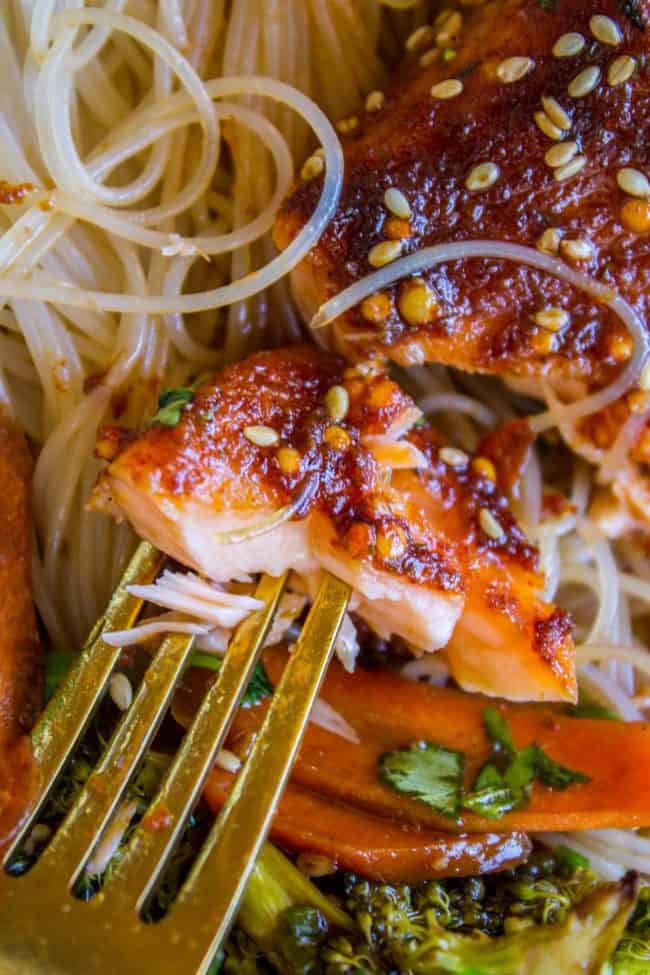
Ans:
{"type": "MultiPolygon", "coordinates": [[[[280,649],[265,655],[273,684],[285,660],[280,649]]],[[[347,674],[337,662],[329,668],[321,695],[360,738],[355,745],[309,726],[293,781],[322,795],[402,822],[445,830],[557,832],[650,826],[650,724],[571,718],[550,707],[497,703],[415,684],[386,671],[357,668],[347,674]],[[469,787],[489,753],[483,709],[495,704],[507,718],[518,748],[537,742],[551,758],[586,773],[591,781],[564,792],[536,783],[530,804],[507,813],[498,824],[468,812],[454,822],[379,781],[377,762],[383,752],[428,739],[465,753],[469,787]]],[[[251,733],[259,720],[259,714],[242,711],[237,733],[251,733]]]]}

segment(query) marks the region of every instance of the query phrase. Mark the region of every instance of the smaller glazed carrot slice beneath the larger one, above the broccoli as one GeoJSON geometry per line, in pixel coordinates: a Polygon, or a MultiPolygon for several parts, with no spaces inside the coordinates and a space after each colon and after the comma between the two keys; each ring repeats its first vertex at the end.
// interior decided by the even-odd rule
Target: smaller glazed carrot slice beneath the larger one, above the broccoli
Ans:
{"type": "MultiPolygon", "coordinates": [[[[205,798],[217,812],[234,776],[215,769],[205,798]]],[[[273,820],[279,846],[325,857],[334,867],[382,883],[417,883],[506,870],[525,860],[531,843],[523,833],[454,834],[403,826],[290,784],[273,820]]]]}

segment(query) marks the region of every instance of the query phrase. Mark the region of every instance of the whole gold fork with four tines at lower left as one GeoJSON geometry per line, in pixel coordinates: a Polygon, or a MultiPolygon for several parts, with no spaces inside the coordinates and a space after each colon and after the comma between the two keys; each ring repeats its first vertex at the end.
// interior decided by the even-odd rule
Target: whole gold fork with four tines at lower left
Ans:
{"type": "Polygon", "coordinates": [[[252,676],[286,575],[261,578],[255,595],[264,608],[235,633],[217,680],[100,892],[85,902],[74,896],[73,888],[170,704],[192,649],[191,636],[171,635],[162,642],[65,821],[24,876],[7,872],[106,691],[120,650],[105,643],[103,635],[131,626],[140,612],[142,600],[126,587],[151,582],[163,561],[151,545],[139,546],[106,613],[34,730],[37,796],[5,854],[0,876],[0,975],[203,975],[236,915],[347,607],[348,586],[330,575],[321,584],[228,802],[162,920],[146,923],[141,915],[252,676]]]}

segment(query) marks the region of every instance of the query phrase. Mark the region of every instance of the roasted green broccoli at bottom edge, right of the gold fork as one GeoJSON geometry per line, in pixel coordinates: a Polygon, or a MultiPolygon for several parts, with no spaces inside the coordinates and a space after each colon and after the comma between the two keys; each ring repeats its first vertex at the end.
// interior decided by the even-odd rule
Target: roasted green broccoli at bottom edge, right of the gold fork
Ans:
{"type": "Polygon", "coordinates": [[[543,853],[487,880],[409,887],[348,875],[344,902],[356,925],[342,934],[313,899],[287,908],[269,894],[255,890],[264,895],[264,942],[245,915],[241,922],[284,975],[595,975],[620,938],[636,884],[599,886],[589,871],[543,853]]]}

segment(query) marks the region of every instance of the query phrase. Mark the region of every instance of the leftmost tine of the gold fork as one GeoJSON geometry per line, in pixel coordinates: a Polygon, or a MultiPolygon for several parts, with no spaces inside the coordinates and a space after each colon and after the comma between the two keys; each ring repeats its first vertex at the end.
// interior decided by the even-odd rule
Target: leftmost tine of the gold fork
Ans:
{"type": "Polygon", "coordinates": [[[53,697],[32,735],[34,757],[39,769],[37,794],[29,816],[8,847],[3,863],[11,860],[25,834],[31,829],[59,773],[71,758],[104,693],[121,650],[110,647],[102,634],[126,629],[137,617],[142,600],[126,587],[150,582],[164,561],[152,545],[141,543],[129,562],[106,612],[97,621],[69,675],[53,697]]]}

